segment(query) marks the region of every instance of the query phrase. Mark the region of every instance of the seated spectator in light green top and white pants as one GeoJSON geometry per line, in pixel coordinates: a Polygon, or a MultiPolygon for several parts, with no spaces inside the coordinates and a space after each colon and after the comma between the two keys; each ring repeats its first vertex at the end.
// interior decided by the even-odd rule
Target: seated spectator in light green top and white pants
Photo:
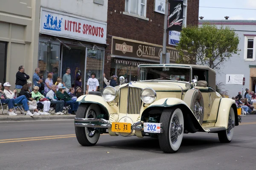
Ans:
{"type": "Polygon", "coordinates": [[[39,93],[39,87],[35,86],[34,90],[32,91],[32,98],[37,101],[37,103],[41,102],[44,105],[44,115],[49,115],[48,112],[50,110],[50,104],[51,102],[45,98],[41,93],[39,93]]]}

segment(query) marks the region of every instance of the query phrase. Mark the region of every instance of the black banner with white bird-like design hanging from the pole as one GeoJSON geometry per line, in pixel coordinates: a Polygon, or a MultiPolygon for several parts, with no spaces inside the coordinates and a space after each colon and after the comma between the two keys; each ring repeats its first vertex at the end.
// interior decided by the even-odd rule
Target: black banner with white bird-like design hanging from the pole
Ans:
{"type": "Polygon", "coordinates": [[[181,31],[183,22],[183,0],[169,0],[167,31],[181,31]]]}

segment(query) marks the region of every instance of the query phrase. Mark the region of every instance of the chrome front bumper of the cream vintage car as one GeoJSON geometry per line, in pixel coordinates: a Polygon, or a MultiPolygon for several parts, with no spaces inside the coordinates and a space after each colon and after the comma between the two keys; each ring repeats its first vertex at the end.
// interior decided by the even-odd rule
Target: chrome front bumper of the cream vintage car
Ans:
{"type": "MultiPolygon", "coordinates": [[[[131,129],[143,131],[143,126],[140,125],[143,125],[143,121],[134,123],[131,129]]],[[[111,128],[111,123],[108,120],[99,118],[75,118],[75,127],[111,128]]]]}

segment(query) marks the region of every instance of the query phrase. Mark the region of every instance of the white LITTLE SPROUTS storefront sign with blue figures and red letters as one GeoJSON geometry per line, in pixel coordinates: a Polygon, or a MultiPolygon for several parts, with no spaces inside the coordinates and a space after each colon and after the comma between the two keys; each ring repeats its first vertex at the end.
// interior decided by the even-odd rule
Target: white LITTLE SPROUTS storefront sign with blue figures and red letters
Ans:
{"type": "Polygon", "coordinates": [[[107,23],[41,8],[40,33],[105,44],[107,23]]]}

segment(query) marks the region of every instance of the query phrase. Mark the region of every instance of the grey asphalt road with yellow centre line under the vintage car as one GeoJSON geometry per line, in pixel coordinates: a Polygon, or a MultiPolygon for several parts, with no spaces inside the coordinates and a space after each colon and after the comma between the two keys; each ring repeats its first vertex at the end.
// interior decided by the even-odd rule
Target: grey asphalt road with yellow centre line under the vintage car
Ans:
{"type": "Polygon", "coordinates": [[[0,123],[0,170],[255,170],[256,115],[235,130],[229,144],[215,133],[185,134],[178,152],[166,154],[148,137],[102,135],[82,147],[72,120],[0,123]]]}

